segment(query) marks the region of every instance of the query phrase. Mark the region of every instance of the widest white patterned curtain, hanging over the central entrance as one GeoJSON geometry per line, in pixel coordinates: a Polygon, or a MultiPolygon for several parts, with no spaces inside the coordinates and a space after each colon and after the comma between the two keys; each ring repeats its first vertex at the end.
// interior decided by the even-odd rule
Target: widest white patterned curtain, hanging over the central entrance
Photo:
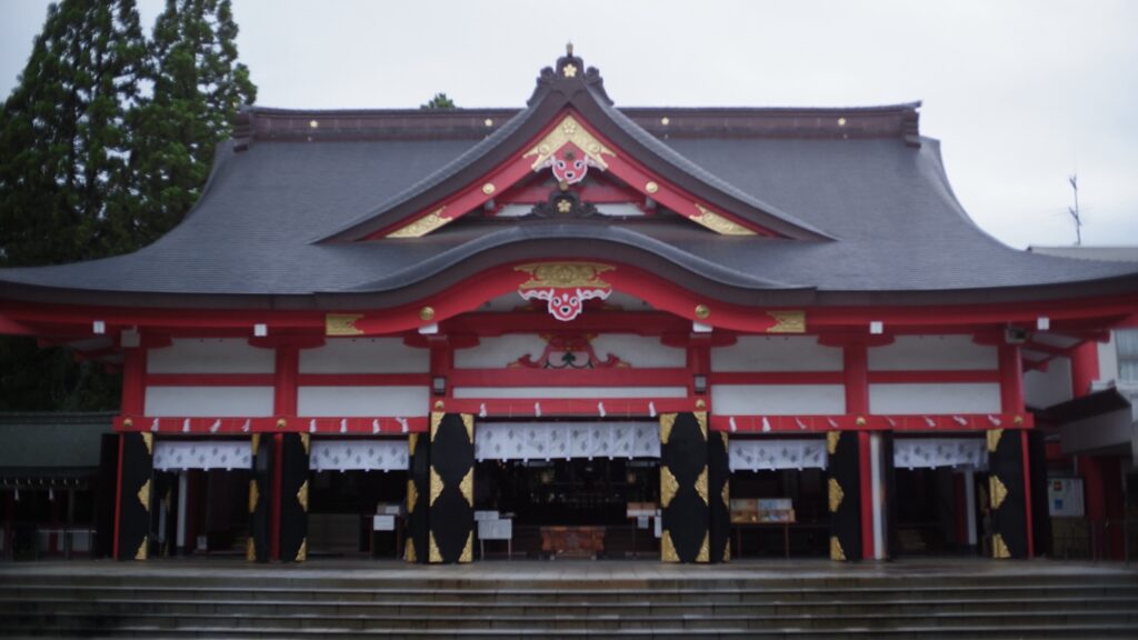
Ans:
{"type": "Polygon", "coordinates": [[[478,460],[659,458],[658,422],[479,422],[478,460]]]}

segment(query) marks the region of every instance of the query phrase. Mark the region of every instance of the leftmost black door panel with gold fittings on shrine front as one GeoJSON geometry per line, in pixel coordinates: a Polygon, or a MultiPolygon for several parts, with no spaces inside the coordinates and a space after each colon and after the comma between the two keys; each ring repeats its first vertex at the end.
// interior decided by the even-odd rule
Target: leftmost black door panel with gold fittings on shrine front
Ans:
{"type": "Polygon", "coordinates": [[[124,433],[119,437],[115,557],[145,560],[150,547],[154,434],[124,433]]]}

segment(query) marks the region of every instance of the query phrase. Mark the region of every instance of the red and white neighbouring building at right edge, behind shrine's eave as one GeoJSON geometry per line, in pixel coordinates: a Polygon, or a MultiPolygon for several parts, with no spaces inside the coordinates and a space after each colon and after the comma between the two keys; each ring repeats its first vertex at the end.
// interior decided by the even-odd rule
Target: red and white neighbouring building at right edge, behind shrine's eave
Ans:
{"type": "MultiPolygon", "coordinates": [[[[1138,247],[1028,251],[1138,264],[1138,247]]],[[[1087,337],[1082,344],[1029,344],[1025,396],[1054,432],[1048,466],[1055,555],[1122,558],[1128,548],[1138,549],[1138,322],[1130,318],[1087,337]]]]}

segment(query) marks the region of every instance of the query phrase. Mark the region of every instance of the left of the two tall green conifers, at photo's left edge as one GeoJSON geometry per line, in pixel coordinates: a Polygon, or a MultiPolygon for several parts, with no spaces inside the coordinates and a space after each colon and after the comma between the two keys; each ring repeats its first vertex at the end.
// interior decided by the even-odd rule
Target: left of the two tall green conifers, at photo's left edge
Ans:
{"type": "Polygon", "coordinates": [[[0,115],[0,265],[53,264],[126,247],[129,109],[146,42],[134,0],[48,9],[0,115]]]}

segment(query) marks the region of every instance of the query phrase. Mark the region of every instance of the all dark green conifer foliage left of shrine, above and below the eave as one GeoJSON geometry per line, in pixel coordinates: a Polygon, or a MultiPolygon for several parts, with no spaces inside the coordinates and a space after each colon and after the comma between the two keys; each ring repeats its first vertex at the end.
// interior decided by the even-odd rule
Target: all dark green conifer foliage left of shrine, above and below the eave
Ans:
{"type": "MultiPolygon", "coordinates": [[[[256,88],[229,0],[167,0],[147,41],[134,0],[48,9],[0,109],[0,266],[92,260],[190,210],[256,88]]],[[[0,336],[0,410],[113,409],[119,383],[66,347],[0,336]]]]}

